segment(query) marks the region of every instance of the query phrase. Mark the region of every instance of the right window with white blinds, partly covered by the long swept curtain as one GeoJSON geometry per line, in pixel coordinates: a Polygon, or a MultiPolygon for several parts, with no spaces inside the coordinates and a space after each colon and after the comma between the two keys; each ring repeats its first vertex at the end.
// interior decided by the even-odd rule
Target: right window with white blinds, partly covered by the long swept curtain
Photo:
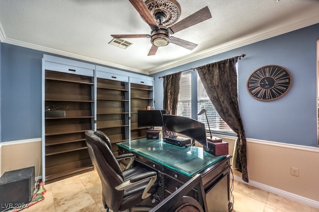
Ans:
{"type": "MultiPolygon", "coordinates": [[[[199,76],[197,75],[197,111],[205,108],[207,110],[207,119],[209,122],[209,127],[211,131],[220,131],[220,132],[231,132],[231,128],[223,121],[223,119],[218,115],[215,107],[209,100],[207,93],[204,89],[203,84],[201,83],[199,76]]],[[[208,130],[208,124],[205,115],[198,115],[198,120],[205,123],[206,129],[208,130]]]]}

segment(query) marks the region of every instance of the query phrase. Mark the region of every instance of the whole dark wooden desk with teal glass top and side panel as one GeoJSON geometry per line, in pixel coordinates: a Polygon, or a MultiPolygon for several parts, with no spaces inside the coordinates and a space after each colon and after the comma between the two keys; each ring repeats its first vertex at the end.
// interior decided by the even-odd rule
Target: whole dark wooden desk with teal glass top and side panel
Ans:
{"type": "MultiPolygon", "coordinates": [[[[134,165],[151,168],[158,173],[161,200],[199,173],[209,211],[232,211],[230,155],[213,156],[201,147],[179,147],[146,138],[120,142],[117,146],[119,154],[135,154],[134,165]]],[[[196,197],[195,193],[193,197],[196,197]]]]}

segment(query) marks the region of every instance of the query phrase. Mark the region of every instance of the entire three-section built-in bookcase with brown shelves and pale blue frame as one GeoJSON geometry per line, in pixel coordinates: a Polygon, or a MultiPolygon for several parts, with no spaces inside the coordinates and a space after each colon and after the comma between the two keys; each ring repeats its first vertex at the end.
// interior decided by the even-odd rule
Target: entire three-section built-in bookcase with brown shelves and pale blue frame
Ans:
{"type": "Polygon", "coordinates": [[[94,169],[87,130],[108,135],[115,155],[117,142],[145,137],[146,128],[137,127],[137,110],[154,106],[153,83],[152,77],[44,55],[42,180],[50,183],[94,169]],[[52,115],[55,110],[58,114],[52,115]]]}

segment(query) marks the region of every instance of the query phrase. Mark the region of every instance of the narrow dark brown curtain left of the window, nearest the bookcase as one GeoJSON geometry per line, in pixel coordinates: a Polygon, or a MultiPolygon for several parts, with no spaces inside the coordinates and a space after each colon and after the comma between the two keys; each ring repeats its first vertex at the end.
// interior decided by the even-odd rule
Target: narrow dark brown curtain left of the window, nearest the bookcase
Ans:
{"type": "Polygon", "coordinates": [[[166,109],[166,114],[176,115],[179,95],[179,81],[181,72],[166,75],[164,79],[164,100],[163,108],[166,109]]]}

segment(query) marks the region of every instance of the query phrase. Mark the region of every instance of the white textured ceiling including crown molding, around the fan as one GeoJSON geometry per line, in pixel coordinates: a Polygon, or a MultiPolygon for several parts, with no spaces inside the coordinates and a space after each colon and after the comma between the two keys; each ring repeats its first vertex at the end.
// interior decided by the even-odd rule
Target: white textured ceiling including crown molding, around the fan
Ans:
{"type": "Polygon", "coordinates": [[[174,44],[147,56],[149,38],[127,38],[127,49],[108,44],[111,34],[150,34],[129,0],[0,0],[0,41],[151,74],[319,23],[319,0],[177,0],[180,21],[208,6],[212,18],[173,36],[174,44]]]}

